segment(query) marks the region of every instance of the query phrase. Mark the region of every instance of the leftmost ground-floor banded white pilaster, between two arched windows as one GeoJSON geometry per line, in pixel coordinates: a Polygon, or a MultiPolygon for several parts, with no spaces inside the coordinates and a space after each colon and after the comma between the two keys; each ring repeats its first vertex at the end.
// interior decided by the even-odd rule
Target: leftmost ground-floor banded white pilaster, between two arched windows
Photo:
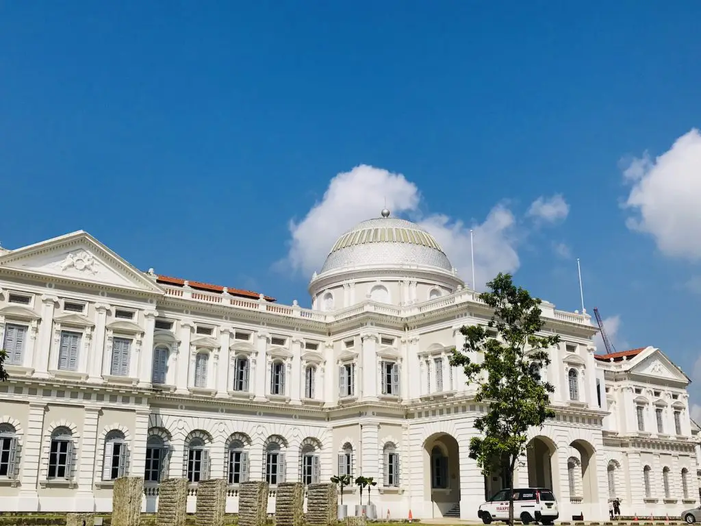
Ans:
{"type": "Polygon", "coordinates": [[[39,509],[39,496],[36,494],[36,483],[39,479],[41,464],[41,440],[43,438],[43,420],[46,404],[29,402],[27,415],[27,431],[24,436],[22,471],[20,473],[20,494],[18,510],[36,511],[39,509]]]}

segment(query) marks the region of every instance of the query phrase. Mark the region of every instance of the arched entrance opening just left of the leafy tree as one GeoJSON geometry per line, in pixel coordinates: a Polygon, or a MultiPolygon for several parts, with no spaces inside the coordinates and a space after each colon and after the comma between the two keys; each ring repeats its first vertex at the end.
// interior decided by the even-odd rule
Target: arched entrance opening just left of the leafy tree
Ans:
{"type": "Polygon", "coordinates": [[[430,495],[435,517],[460,517],[460,447],[447,433],[435,433],[423,445],[424,494],[430,495]]]}

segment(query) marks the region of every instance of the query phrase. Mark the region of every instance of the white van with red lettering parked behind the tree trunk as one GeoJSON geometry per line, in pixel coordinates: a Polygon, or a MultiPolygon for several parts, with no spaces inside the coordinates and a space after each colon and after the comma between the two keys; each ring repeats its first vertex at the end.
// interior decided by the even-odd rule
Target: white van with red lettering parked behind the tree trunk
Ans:
{"type": "MultiPolygon", "coordinates": [[[[501,490],[491,500],[479,506],[477,517],[484,524],[492,520],[509,520],[509,492],[501,490]]],[[[530,524],[540,522],[543,525],[552,525],[559,517],[557,501],[552,490],[545,487],[524,487],[513,490],[514,492],[514,519],[530,524]]]]}

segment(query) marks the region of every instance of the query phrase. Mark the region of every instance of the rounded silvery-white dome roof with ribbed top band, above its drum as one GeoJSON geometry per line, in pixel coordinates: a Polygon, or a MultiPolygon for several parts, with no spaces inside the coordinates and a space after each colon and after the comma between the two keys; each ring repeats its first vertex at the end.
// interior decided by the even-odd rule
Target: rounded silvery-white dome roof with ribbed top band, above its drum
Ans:
{"type": "Polygon", "coordinates": [[[424,269],[453,274],[447,255],[433,236],[418,224],[389,217],[363,221],[334,243],[320,276],[366,268],[424,269]]]}

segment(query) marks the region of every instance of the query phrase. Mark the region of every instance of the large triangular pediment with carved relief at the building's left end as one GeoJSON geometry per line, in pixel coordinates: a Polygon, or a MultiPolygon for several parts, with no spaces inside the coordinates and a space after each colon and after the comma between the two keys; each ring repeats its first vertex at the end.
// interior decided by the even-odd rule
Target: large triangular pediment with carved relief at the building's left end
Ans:
{"type": "Polygon", "coordinates": [[[104,287],[164,293],[142,271],[84,231],[12,250],[0,256],[3,268],[104,287]]]}

